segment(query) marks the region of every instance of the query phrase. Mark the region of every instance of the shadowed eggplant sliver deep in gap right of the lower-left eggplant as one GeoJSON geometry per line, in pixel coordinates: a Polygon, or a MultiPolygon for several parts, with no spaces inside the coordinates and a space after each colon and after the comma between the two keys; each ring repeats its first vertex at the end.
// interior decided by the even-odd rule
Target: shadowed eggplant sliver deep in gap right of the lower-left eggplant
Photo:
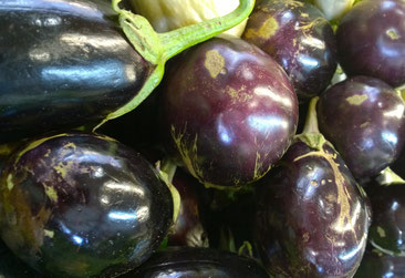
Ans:
{"type": "Polygon", "coordinates": [[[180,194],[180,208],[168,235],[168,246],[208,247],[208,237],[199,212],[196,178],[180,168],[176,169],[173,185],[180,194]]]}

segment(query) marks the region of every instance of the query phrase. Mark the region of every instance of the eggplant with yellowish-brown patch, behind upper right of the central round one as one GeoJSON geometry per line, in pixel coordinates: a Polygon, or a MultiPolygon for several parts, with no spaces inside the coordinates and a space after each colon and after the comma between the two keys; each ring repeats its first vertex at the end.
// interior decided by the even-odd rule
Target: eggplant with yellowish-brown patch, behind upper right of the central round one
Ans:
{"type": "Polygon", "coordinates": [[[300,101],[323,92],[336,70],[336,41],[329,21],[303,1],[263,0],[242,38],[283,66],[300,101]]]}

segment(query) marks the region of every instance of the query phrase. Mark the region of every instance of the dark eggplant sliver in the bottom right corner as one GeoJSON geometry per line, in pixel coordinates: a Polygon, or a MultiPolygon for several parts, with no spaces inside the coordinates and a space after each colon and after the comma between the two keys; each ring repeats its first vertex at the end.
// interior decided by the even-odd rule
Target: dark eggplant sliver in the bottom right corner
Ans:
{"type": "Polygon", "coordinates": [[[403,278],[405,257],[393,257],[368,246],[354,278],[403,278]]]}

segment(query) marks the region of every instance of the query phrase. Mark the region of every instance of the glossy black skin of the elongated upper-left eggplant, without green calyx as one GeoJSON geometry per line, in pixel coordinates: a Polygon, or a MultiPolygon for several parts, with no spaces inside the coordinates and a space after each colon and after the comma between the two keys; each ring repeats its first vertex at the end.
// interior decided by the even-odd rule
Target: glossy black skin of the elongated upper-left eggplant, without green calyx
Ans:
{"type": "Polygon", "coordinates": [[[0,1],[0,142],[96,124],[129,102],[152,68],[111,2],[0,1]]]}

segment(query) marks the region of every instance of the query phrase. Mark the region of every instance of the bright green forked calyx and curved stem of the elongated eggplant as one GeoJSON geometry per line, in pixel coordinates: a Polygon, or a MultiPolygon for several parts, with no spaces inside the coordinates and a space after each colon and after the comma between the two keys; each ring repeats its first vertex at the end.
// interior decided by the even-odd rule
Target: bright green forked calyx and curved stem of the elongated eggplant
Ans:
{"type": "Polygon", "coordinates": [[[113,9],[118,13],[120,25],[135,50],[154,68],[144,86],[134,99],[117,111],[108,114],[94,130],[108,120],[136,109],[162,81],[167,60],[197,43],[239,24],[249,17],[255,7],[255,0],[240,0],[239,7],[225,17],[179,28],[166,33],[157,33],[144,17],[120,8],[121,1],[112,0],[113,9]]]}

